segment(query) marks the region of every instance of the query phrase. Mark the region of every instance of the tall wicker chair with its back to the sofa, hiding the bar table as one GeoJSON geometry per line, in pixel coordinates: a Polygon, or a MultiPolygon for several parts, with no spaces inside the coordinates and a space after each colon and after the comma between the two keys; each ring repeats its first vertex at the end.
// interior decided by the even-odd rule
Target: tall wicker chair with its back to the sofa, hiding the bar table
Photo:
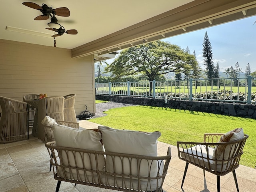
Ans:
{"type": "Polygon", "coordinates": [[[42,98],[38,102],[38,136],[42,141],[45,141],[45,133],[41,124],[45,116],[53,119],[64,121],[64,97],[52,96],[42,98]]]}

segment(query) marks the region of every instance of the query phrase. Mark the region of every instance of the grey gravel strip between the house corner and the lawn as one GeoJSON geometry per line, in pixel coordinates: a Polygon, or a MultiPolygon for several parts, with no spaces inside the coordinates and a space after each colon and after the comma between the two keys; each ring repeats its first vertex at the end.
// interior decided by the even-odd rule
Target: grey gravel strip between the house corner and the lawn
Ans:
{"type": "Polygon", "coordinates": [[[135,106],[132,104],[125,104],[125,103],[116,103],[116,102],[104,102],[104,103],[96,103],[96,112],[92,119],[97,117],[103,117],[107,114],[103,113],[109,109],[113,108],[120,108],[120,107],[128,107],[128,106],[135,106]]]}

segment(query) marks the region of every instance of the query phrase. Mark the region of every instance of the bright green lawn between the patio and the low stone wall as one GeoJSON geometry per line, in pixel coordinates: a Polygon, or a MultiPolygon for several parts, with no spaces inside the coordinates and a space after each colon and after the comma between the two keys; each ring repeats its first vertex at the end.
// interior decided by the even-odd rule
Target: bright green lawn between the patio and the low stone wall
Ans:
{"type": "Polygon", "coordinates": [[[177,141],[203,142],[204,133],[225,133],[242,127],[249,138],[240,164],[256,166],[254,119],[151,106],[115,108],[106,114],[89,121],[116,129],[160,131],[162,136],[158,140],[175,146],[177,141]]]}

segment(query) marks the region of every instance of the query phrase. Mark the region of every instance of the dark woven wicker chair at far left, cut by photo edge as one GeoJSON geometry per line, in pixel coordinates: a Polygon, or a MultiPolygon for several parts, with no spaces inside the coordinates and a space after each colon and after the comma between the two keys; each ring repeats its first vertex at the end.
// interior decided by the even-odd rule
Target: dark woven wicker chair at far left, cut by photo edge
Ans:
{"type": "Polygon", "coordinates": [[[0,143],[28,139],[27,103],[0,96],[0,106],[0,143]]]}

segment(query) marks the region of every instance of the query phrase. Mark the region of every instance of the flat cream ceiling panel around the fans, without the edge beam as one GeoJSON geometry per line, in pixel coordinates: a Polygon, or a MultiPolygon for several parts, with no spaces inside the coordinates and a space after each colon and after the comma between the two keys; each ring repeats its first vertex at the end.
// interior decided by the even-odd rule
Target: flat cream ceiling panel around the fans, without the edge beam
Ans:
{"type": "Polygon", "coordinates": [[[76,48],[148,18],[172,10],[192,0],[1,0],[0,39],[53,46],[53,31],[45,29],[48,20],[34,20],[42,15],[39,10],[24,6],[34,2],[52,8],[67,7],[69,17],[56,16],[66,30],[76,29],[77,35],[63,34],[56,37],[59,48],[76,48]],[[36,36],[6,30],[6,26],[49,34],[36,36]]]}

